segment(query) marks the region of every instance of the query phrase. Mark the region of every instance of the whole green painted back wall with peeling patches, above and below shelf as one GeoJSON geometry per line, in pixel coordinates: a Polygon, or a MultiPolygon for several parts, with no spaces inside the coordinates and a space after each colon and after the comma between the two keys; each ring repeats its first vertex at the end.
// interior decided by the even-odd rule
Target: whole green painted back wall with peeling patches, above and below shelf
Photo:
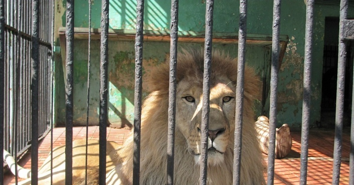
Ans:
{"type": "MultiPolygon", "coordinates": [[[[252,0],[248,2],[247,33],[272,34],[273,1],[252,0]]],[[[218,0],[214,4],[214,33],[238,33],[239,2],[218,0]]],[[[56,26],[65,26],[65,1],[57,0],[56,26]]],[[[135,0],[110,1],[109,23],[112,29],[135,28],[135,0]]],[[[349,8],[349,17],[354,17],[353,7],[349,8]]],[[[92,26],[100,27],[101,1],[93,0],[92,26]]],[[[324,46],[325,17],[338,17],[339,5],[315,5],[311,126],[320,121],[322,56],[324,46]]],[[[167,0],[145,0],[144,29],[168,30],[170,20],[170,2],[167,0]]],[[[280,34],[289,37],[288,45],[278,82],[278,126],[288,123],[291,127],[301,126],[304,33],[306,5],[304,1],[282,1],[280,34]]],[[[87,1],[75,1],[75,27],[87,27],[87,1]]],[[[205,0],[185,0],[179,4],[179,30],[205,30],[205,0]]],[[[57,34],[56,34],[57,36],[57,34]]],[[[59,42],[57,41],[57,46],[59,42]]],[[[179,44],[179,46],[201,44],[179,44]]],[[[74,122],[86,122],[87,89],[87,40],[76,40],[74,45],[74,122]]],[[[62,47],[62,46],[61,46],[62,47]]],[[[226,50],[237,55],[237,45],[213,45],[213,48],[226,50]]],[[[146,72],[165,60],[169,53],[167,42],[144,42],[144,78],[146,72]]],[[[65,123],[65,93],[61,58],[56,57],[55,121],[57,125],[65,123]]],[[[247,46],[247,63],[253,65],[262,78],[269,73],[269,47],[247,46]]],[[[98,123],[99,101],[99,42],[92,42],[92,73],[90,97],[90,124],[98,123]]],[[[129,125],[133,117],[133,69],[134,42],[109,42],[109,121],[129,125]]],[[[148,90],[147,87],[144,87],[148,90]]],[[[145,94],[146,95],[146,94],[145,94]]],[[[266,105],[269,101],[264,100],[266,105]]],[[[268,104],[267,104],[268,103],[268,104]]],[[[265,107],[265,112],[269,108],[265,107]]]]}

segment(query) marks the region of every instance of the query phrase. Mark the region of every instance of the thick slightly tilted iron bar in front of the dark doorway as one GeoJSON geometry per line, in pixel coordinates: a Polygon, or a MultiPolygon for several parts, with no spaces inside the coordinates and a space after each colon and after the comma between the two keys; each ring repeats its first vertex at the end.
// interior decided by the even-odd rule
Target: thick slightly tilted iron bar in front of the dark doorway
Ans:
{"type": "Polygon", "coordinates": [[[348,0],[341,0],[339,13],[339,45],[338,45],[338,77],[337,77],[337,98],[336,98],[336,128],[333,149],[333,175],[332,184],[339,184],[342,160],[342,132],[343,132],[343,110],[344,110],[344,81],[346,74],[347,42],[344,41],[343,24],[347,19],[348,0]]]}

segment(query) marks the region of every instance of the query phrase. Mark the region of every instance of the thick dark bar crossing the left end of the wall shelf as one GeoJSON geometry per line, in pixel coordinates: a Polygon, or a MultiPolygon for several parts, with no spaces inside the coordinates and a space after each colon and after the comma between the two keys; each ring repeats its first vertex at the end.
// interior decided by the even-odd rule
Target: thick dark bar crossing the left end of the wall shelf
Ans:
{"type": "Polygon", "coordinates": [[[73,181],[74,0],[67,0],[65,184],[73,181]]]}

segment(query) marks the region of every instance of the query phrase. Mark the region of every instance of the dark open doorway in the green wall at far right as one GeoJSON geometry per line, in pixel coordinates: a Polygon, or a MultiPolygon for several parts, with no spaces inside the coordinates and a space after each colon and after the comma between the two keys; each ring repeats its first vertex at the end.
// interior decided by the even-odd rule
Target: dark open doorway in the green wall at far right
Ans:
{"type": "MultiPolygon", "coordinates": [[[[322,101],[320,127],[334,128],[337,92],[339,18],[327,17],[322,68],[322,101]]],[[[344,126],[350,126],[352,110],[353,54],[352,43],[347,47],[346,76],[344,86],[344,126]]]]}

